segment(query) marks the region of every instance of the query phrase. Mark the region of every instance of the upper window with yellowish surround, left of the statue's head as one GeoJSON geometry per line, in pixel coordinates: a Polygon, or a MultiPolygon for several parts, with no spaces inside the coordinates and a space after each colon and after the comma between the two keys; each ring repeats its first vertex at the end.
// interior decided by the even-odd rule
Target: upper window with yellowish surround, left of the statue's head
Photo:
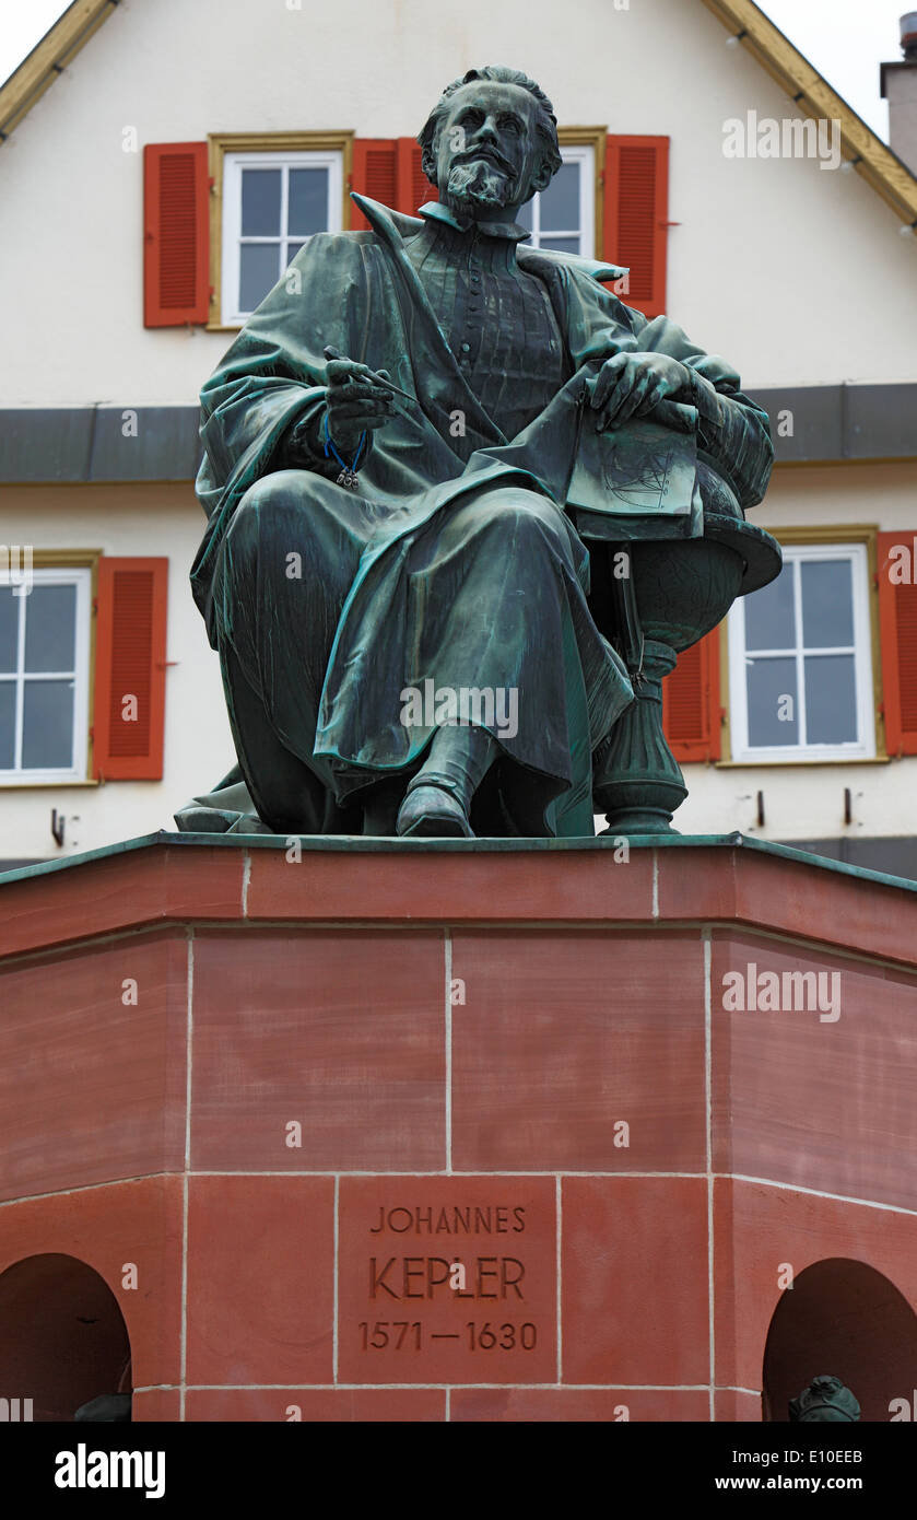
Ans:
{"type": "Polygon", "coordinates": [[[351,225],[354,134],[225,132],[208,143],[208,327],[237,328],[314,233],[351,225]]]}

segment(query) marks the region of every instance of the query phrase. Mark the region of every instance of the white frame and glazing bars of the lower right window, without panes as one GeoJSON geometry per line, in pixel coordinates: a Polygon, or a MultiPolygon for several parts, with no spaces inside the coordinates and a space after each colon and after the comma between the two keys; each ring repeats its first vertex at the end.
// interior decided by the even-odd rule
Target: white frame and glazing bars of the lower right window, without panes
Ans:
{"type": "Polygon", "coordinates": [[[817,765],[824,760],[873,760],[876,755],[876,725],[873,716],[873,648],[868,603],[868,553],[867,544],[786,544],[783,546],[785,564],[802,564],[805,561],[844,559],[850,564],[850,579],[853,593],[853,648],[838,646],[830,649],[805,649],[802,622],[802,575],[794,570],[794,611],[796,611],[796,648],[791,649],[755,649],[748,655],[745,649],[745,606],[744,599],[733,603],[729,613],[729,704],[732,728],[732,758],[741,763],[771,762],[808,762],[817,765]],[[767,654],[796,657],[796,701],[800,728],[805,733],[805,654],[830,655],[853,654],[853,678],[856,682],[856,740],[841,745],[814,745],[802,742],[799,745],[758,745],[748,743],[748,686],[745,681],[745,658],[767,654]]]}

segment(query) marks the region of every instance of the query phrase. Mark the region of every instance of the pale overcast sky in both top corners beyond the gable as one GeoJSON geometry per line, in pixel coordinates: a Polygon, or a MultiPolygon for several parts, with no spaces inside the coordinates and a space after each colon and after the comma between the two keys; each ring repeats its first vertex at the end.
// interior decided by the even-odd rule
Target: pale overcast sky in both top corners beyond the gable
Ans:
{"type": "MultiPolygon", "coordinates": [[[[194,0],[185,3],[194,5],[194,0]]],[[[632,0],[633,6],[651,3],[632,0]]],[[[917,0],[909,5],[906,0],[759,0],[759,5],[838,94],[888,141],[888,106],[879,96],[879,64],[900,58],[897,20],[914,9],[917,0]]],[[[65,9],[61,0],[0,0],[0,79],[17,68],[65,9]]]]}

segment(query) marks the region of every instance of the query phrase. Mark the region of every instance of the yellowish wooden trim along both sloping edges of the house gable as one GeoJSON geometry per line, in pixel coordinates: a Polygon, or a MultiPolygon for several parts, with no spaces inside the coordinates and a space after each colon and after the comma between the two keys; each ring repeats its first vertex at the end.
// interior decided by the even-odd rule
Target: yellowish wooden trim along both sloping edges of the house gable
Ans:
{"type": "MultiPolygon", "coordinates": [[[[841,147],[853,167],[917,233],[917,176],[830,88],[823,74],[783,36],[753,0],[703,0],[742,47],[811,117],[841,123],[841,147]]],[[[73,0],[20,67],[0,87],[0,141],[73,62],[80,47],[115,11],[118,0],[73,0]]]]}

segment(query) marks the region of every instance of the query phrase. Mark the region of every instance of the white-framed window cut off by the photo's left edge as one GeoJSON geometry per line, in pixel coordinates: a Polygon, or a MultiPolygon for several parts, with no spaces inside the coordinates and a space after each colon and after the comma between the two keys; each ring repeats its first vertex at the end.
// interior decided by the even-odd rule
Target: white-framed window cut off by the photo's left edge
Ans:
{"type": "Polygon", "coordinates": [[[0,784],[87,777],[88,568],[0,585],[0,784]]]}

